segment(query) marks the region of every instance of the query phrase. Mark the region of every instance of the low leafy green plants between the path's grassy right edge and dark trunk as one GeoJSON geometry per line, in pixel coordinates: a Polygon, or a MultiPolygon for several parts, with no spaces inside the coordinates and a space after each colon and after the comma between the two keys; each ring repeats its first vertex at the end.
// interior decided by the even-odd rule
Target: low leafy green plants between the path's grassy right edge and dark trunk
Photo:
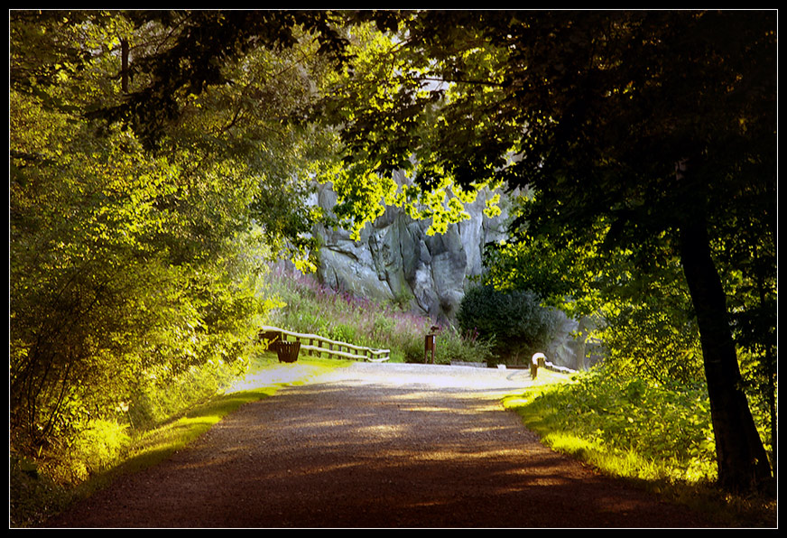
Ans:
{"type": "Polygon", "coordinates": [[[614,474],[694,483],[716,475],[710,404],[701,384],[659,385],[596,369],[575,376],[572,383],[551,385],[523,399],[512,397],[507,406],[523,414],[529,427],[548,435],[548,443],[568,446],[565,438],[577,438],[582,443],[572,444],[581,445],[586,457],[599,454],[591,461],[603,461],[604,454],[627,461],[625,469],[608,463],[617,467],[606,469],[614,474]]]}

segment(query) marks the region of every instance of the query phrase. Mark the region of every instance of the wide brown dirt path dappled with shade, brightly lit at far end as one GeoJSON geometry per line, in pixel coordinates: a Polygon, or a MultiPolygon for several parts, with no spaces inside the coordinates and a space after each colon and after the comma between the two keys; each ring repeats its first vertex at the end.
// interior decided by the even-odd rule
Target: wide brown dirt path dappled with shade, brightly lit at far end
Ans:
{"type": "Polygon", "coordinates": [[[247,404],[67,527],[693,527],[545,449],[500,404],[524,371],[356,364],[247,404]]]}

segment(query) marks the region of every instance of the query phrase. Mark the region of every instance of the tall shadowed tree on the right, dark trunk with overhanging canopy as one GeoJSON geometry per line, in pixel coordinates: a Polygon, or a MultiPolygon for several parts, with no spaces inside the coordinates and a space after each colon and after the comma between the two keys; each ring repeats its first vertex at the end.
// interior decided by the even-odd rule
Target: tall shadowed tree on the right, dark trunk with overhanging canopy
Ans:
{"type": "Polygon", "coordinates": [[[775,14],[418,12],[401,35],[408,68],[385,86],[397,98],[342,118],[348,161],[385,155],[373,166],[384,173],[415,155],[427,189],[527,186],[519,224],[555,245],[602,230],[610,251],[671,249],[699,325],[720,484],[770,480],[715,249],[746,240],[725,226],[733,214],[774,222],[775,196],[752,193],[775,192],[775,14]]]}

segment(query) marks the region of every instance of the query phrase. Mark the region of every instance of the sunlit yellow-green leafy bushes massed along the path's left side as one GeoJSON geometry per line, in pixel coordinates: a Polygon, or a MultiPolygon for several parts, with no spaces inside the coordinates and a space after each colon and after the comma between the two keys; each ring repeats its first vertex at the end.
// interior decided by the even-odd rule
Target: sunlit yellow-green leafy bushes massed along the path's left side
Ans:
{"type": "MultiPolygon", "coordinates": [[[[14,122],[48,117],[23,95],[12,102],[14,122]]],[[[218,178],[178,195],[196,178],[132,136],[98,145],[44,125],[58,124],[17,133],[58,144],[34,166],[14,160],[11,188],[11,416],[31,449],[113,409],[146,370],[236,360],[261,313],[241,223],[224,212],[240,200],[205,192],[218,178]]],[[[14,136],[25,152],[37,143],[14,136]]]]}

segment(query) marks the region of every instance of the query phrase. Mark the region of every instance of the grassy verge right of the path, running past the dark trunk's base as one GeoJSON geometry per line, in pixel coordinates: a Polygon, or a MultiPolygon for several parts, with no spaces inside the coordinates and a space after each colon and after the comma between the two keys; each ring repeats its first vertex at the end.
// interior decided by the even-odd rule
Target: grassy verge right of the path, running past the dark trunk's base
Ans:
{"type": "Polygon", "coordinates": [[[603,372],[542,376],[504,400],[542,443],[598,471],[688,505],[720,527],[774,527],[777,501],[714,486],[715,446],[701,387],[603,372]]]}

